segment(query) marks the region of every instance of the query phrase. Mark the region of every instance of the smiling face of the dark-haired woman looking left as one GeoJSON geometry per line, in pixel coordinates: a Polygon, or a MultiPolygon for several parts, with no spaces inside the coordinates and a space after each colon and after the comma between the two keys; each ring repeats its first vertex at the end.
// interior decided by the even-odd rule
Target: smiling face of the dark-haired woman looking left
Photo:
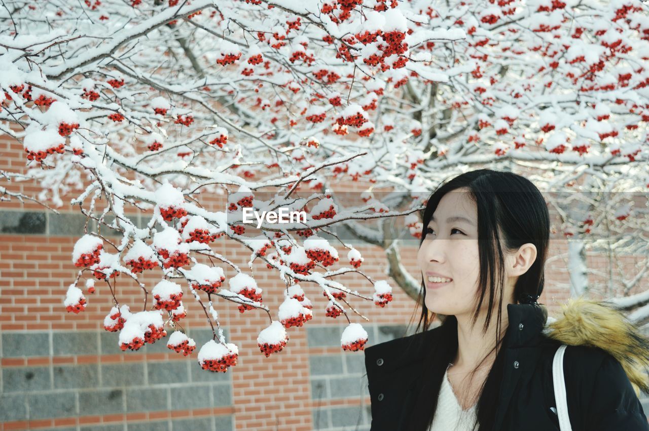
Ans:
{"type": "Polygon", "coordinates": [[[417,251],[417,263],[426,286],[426,307],[447,316],[472,315],[480,275],[478,208],[467,189],[445,194],[424,231],[426,238],[417,251]],[[427,273],[441,274],[451,281],[433,283],[427,273]]]}

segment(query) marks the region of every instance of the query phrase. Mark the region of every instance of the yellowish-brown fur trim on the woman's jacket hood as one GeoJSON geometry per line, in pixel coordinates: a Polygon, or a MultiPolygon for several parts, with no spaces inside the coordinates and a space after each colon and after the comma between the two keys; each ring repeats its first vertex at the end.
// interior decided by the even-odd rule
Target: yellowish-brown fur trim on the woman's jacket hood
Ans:
{"type": "Polygon", "coordinates": [[[640,390],[649,393],[649,338],[613,307],[606,301],[570,299],[556,319],[548,318],[543,332],[563,344],[607,351],[620,362],[637,395],[640,390]]]}

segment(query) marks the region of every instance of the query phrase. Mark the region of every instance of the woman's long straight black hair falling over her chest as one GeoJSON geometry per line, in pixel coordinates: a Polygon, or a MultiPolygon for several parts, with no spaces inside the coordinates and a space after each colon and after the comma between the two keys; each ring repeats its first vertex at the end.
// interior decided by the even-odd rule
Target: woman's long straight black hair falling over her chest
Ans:
{"type": "MultiPolygon", "coordinates": [[[[468,196],[478,207],[478,250],[480,258],[480,278],[473,316],[473,324],[480,315],[482,303],[488,301],[487,316],[483,332],[491,323],[494,305],[498,305],[496,316],[496,344],[484,360],[496,350],[496,358],[480,389],[477,404],[477,423],[480,431],[491,431],[494,427],[495,412],[504,370],[504,338],[501,338],[500,317],[503,308],[505,272],[504,252],[518,250],[523,244],[534,244],[537,256],[527,272],[520,275],[514,286],[514,298],[519,301],[527,295],[541,296],[544,283],[544,266],[550,241],[550,215],[541,192],[530,180],[511,172],[479,169],[465,172],[442,183],[426,202],[422,215],[423,232],[419,247],[426,238],[426,227],[430,223],[441,198],[450,191],[467,189],[468,196]],[[497,277],[496,277],[497,276],[497,277]],[[496,280],[496,278],[498,278],[496,280]],[[496,283],[497,282],[497,283],[496,283]],[[486,299],[485,299],[486,297],[486,299]]],[[[421,305],[421,316],[417,332],[430,329],[438,317],[442,321],[439,338],[435,345],[425,346],[428,360],[422,369],[423,387],[416,394],[408,430],[428,430],[434,419],[435,408],[445,369],[458,353],[458,320],[455,316],[436,316],[426,307],[426,288],[422,279],[417,304],[421,305]],[[421,330],[421,331],[420,331],[421,330]]],[[[417,337],[413,337],[414,340],[417,337]]],[[[423,337],[419,337],[423,340],[423,337]]],[[[482,364],[478,364],[478,367],[482,364]]],[[[473,373],[477,371],[473,370],[473,373]]],[[[473,374],[472,373],[472,374],[473,374]]],[[[474,426],[474,429],[475,429],[474,426]]]]}

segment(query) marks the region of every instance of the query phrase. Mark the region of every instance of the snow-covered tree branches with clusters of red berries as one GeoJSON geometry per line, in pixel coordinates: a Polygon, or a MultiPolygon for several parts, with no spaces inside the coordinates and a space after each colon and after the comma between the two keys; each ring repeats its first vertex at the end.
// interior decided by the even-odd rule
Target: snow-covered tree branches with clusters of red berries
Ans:
{"type": "MultiPolygon", "coordinates": [[[[120,331],[123,349],[159,340],[165,325],[182,320],[181,284],[217,327],[213,296],[271,316],[254,277],[210,249],[221,237],[247,246],[251,259],[263,259],[286,282],[278,320],[271,318],[258,338],[265,355],[286,345],[286,328],[312,316],[300,282],[323,288],[326,314],[345,314],[350,323],[341,346],[358,350],[367,333],[341,302],[349,305],[350,295],[384,307],[391,286],[368,278],[374,293],[366,296],[334,281],[360,272],[362,257],[345,244],[353,268],[326,270],[339,255],[315,235],[319,229],[345,224],[385,247],[390,275],[412,294],[419,283],[400,267],[391,224],[410,215],[410,233],[421,235],[413,213],[454,173],[509,163],[542,172],[533,180],[546,191],[590,176],[598,179],[593,189],[649,187],[649,19],[638,1],[3,5],[0,132],[23,144],[29,170],[1,174],[43,187],[38,196],[2,187],[3,198],[60,207],[62,194],[88,181],[72,204],[123,237],[113,243],[98,229],[79,239],[73,262],[84,269],[69,288],[67,310],[86,305],[77,287],[82,274],[110,286],[119,274],[138,281],[145,270],[164,272],[152,290],[138,281],[140,312],[111,290],[114,307],[104,327],[120,331]],[[361,179],[399,192],[384,202],[368,193],[364,205],[345,207],[323,191],[336,180],[361,179]],[[268,188],[273,199],[255,199],[268,188]],[[224,190],[239,196],[227,211],[199,204],[201,194],[224,190]],[[297,198],[299,191],[312,196],[297,198]],[[101,198],[107,205],[95,216],[101,198]],[[250,238],[233,218],[244,208],[279,206],[306,209],[308,220],[265,223],[263,235],[250,238]],[[148,224],[136,226],[125,207],[153,210],[148,224]],[[114,222],[107,224],[109,215],[114,222]],[[370,218],[384,221],[383,228],[358,222],[370,218]],[[223,269],[199,264],[195,255],[239,274],[223,288],[223,269]]],[[[89,281],[88,292],[94,288],[89,281]]],[[[629,309],[644,305],[649,315],[648,303],[641,297],[629,309]]],[[[190,354],[195,342],[174,334],[168,345],[190,354]]],[[[236,364],[236,345],[220,328],[199,350],[205,369],[236,364]]]]}

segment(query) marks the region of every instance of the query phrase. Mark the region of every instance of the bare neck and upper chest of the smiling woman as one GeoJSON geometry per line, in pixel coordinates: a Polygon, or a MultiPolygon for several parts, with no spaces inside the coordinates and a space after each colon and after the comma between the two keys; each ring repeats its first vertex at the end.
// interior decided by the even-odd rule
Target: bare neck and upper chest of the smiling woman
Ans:
{"type": "MultiPolygon", "coordinates": [[[[484,334],[482,327],[486,315],[486,312],[481,313],[473,327],[471,327],[472,315],[456,316],[458,320],[458,355],[453,362],[455,369],[474,369],[478,366],[484,367],[493,364],[496,358],[496,351],[493,347],[496,345],[496,320],[498,316],[496,312],[492,312],[491,322],[489,322],[487,332],[484,334]],[[489,356],[487,356],[487,353],[489,356]],[[482,362],[485,356],[487,358],[482,362]]],[[[508,323],[508,314],[504,310],[500,320],[501,338],[507,330],[508,323]]]]}

